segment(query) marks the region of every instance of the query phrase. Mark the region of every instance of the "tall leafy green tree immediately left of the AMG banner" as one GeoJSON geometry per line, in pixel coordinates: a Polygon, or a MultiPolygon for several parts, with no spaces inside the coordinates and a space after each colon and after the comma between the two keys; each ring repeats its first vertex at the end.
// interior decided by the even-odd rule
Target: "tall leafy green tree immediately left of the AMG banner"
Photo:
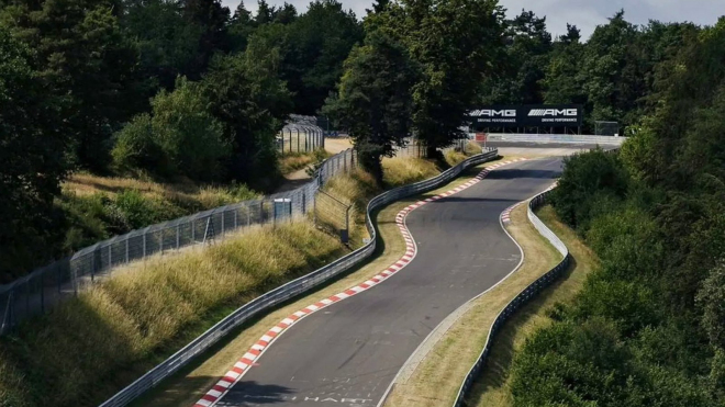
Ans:
{"type": "Polygon", "coordinates": [[[423,67],[422,79],[413,86],[413,123],[430,157],[464,137],[464,117],[481,81],[494,70],[502,18],[495,1],[403,0],[366,19],[369,26],[403,43],[423,67]]]}

